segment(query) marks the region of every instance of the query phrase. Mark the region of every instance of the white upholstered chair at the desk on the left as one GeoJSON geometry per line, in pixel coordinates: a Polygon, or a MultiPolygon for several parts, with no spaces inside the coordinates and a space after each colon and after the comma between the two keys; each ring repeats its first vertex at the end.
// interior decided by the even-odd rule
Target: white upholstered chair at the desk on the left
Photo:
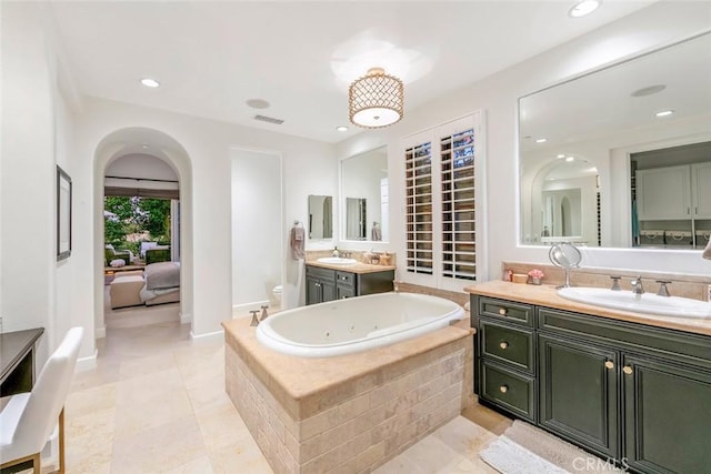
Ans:
{"type": "MultiPolygon", "coordinates": [[[[29,393],[12,395],[0,412],[0,470],[32,468],[40,474],[40,453],[59,423],[59,472],[64,472],[64,402],[69,394],[82,327],[69,330],[29,393]]],[[[6,471],[7,470],[7,471],[6,471]]]]}

